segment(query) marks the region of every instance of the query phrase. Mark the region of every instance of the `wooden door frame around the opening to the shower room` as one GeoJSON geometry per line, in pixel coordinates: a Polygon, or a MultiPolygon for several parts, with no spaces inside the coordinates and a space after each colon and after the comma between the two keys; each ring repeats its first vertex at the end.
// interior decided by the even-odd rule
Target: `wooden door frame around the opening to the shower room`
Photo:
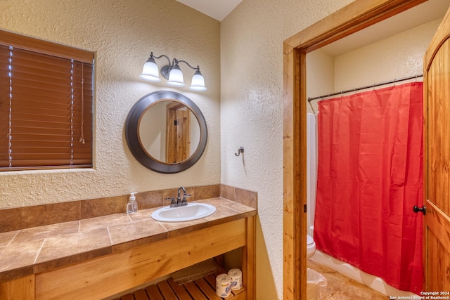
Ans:
{"type": "Polygon", "coordinates": [[[283,42],[283,299],[306,299],[306,55],[426,1],[355,0],[283,42]]]}

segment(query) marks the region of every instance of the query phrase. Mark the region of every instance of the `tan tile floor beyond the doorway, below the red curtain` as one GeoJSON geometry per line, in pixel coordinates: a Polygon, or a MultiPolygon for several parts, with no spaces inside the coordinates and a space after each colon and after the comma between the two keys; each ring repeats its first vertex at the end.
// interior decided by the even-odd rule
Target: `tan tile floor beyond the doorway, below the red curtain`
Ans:
{"type": "MultiPolygon", "coordinates": [[[[388,296],[377,292],[366,285],[355,280],[347,278],[332,268],[323,266],[315,261],[308,261],[308,268],[316,270],[325,276],[327,286],[321,289],[321,298],[323,300],[354,300],[354,299],[371,299],[386,300],[388,296]]],[[[309,299],[309,298],[308,298],[309,299]]]]}

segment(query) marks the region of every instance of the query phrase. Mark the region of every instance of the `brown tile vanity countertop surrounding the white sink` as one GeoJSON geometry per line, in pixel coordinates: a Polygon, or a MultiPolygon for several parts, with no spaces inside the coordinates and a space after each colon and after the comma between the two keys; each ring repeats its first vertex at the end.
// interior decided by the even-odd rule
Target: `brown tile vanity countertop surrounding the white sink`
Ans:
{"type": "Polygon", "coordinates": [[[166,223],[151,218],[159,208],[155,207],[136,214],[112,214],[0,233],[0,283],[257,213],[252,207],[222,197],[195,202],[212,204],[217,211],[203,219],[166,223]]]}

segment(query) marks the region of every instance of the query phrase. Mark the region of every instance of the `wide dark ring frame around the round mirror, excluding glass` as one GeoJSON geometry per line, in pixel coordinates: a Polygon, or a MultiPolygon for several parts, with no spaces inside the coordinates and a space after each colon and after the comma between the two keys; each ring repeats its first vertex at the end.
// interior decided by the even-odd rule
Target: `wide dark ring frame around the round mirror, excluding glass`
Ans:
{"type": "Polygon", "coordinates": [[[127,139],[128,148],[131,151],[131,154],[144,167],[163,174],[173,174],[185,171],[192,167],[195,162],[198,162],[198,159],[203,155],[206,148],[207,134],[205,117],[203,117],[198,106],[195,105],[191,99],[174,91],[155,91],[143,96],[133,105],[133,107],[131,107],[127,120],[125,121],[125,138],[127,139]],[[143,114],[151,107],[151,105],[164,100],[174,100],[186,105],[186,107],[193,112],[200,126],[200,141],[197,149],[191,157],[182,162],[176,162],[175,164],[160,162],[158,159],[153,158],[148,154],[146,149],[143,148],[141,139],[139,138],[139,124],[141,123],[143,114]]]}

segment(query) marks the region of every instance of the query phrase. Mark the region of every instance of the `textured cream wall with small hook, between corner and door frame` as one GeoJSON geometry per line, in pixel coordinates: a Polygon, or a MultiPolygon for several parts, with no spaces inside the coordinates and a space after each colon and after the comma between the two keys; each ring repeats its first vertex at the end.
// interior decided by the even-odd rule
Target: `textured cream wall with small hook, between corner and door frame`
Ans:
{"type": "Polygon", "coordinates": [[[350,2],[244,0],[221,22],[221,182],[258,192],[258,300],[283,299],[283,40],[350,2]]]}

